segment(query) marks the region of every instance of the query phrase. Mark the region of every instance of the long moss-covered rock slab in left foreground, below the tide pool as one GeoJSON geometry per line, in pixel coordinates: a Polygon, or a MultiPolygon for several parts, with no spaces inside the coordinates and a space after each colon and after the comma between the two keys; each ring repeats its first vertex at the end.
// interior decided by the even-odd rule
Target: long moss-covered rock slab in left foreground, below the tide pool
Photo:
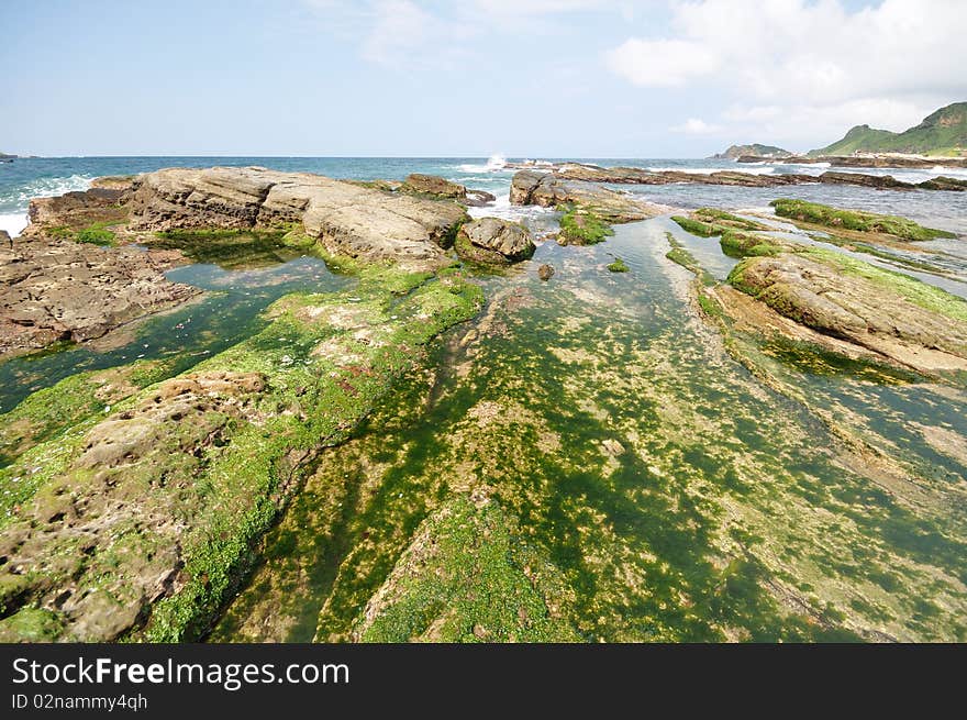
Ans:
{"type": "Polygon", "coordinates": [[[143,390],[125,375],[108,412],[95,376],[70,379],[76,402],[29,424],[0,469],[18,488],[0,519],[0,633],[32,636],[45,610],[58,640],[199,636],[307,463],[481,301],[459,273],[375,267],[353,295],[286,296],[191,373],[143,390]]]}

